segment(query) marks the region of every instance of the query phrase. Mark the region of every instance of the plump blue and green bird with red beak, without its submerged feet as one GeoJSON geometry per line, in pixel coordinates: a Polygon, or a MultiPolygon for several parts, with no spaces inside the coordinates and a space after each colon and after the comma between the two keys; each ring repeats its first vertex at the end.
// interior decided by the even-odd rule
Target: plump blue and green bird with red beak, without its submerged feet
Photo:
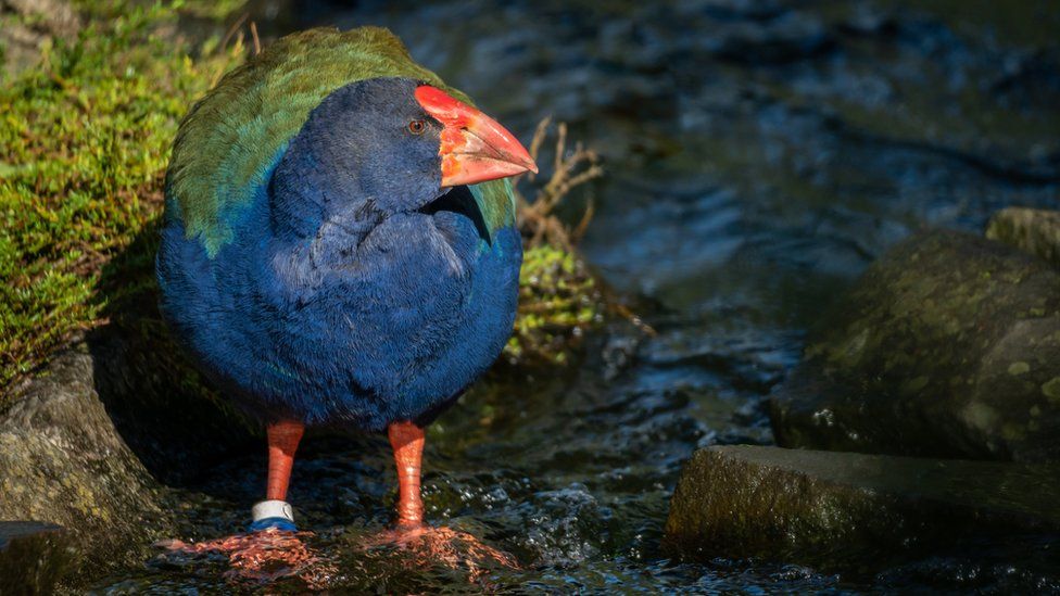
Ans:
{"type": "Polygon", "coordinates": [[[254,531],[286,502],[306,426],[387,431],[398,524],[424,523],[424,427],[512,332],[527,150],[389,31],[313,29],[225,76],[166,175],[161,308],[268,436],[254,531]]]}

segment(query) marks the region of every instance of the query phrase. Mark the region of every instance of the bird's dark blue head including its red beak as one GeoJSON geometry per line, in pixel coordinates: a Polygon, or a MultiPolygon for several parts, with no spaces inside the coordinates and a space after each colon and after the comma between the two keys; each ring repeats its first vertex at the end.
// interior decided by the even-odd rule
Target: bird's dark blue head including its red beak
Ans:
{"type": "Polygon", "coordinates": [[[408,78],[340,88],[310,115],[276,179],[335,212],[350,198],[415,211],[449,189],[538,172],[512,132],[445,91],[408,78]],[[298,188],[294,188],[298,187],[298,188]]]}

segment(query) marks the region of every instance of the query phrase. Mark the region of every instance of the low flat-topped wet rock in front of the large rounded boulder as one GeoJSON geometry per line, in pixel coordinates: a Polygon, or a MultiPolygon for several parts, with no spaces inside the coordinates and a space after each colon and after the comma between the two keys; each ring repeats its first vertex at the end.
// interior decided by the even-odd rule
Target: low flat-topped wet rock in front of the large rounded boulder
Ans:
{"type": "Polygon", "coordinates": [[[875,573],[979,537],[1021,536],[1025,554],[1024,538],[1060,531],[1058,499],[1056,464],[709,447],[681,473],[664,542],[691,558],[875,573]]]}

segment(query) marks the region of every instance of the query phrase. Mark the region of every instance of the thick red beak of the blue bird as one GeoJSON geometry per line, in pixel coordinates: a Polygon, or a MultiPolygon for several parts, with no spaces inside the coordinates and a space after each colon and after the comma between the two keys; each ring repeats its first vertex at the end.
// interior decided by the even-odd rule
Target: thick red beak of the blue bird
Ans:
{"type": "Polygon", "coordinates": [[[526,148],[496,121],[449,93],[420,85],[416,100],[442,123],[442,186],[474,185],[523,172],[538,173],[526,148]]]}

